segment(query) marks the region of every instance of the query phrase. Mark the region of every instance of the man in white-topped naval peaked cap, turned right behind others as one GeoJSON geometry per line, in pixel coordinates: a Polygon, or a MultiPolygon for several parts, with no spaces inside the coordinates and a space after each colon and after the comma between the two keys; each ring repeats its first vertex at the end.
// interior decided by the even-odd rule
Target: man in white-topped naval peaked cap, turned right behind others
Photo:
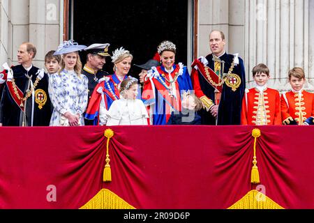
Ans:
{"type": "MultiPolygon", "coordinates": [[[[98,80],[108,75],[108,73],[102,69],[106,63],[105,57],[110,56],[110,54],[108,54],[109,46],[109,43],[94,43],[84,49],[84,51],[87,52],[87,63],[84,65],[82,74],[86,75],[89,79],[89,98],[91,98],[91,93],[93,93],[95,86],[98,84],[98,80]]],[[[85,125],[93,125],[93,122],[86,118],[84,122],[85,125]]]]}

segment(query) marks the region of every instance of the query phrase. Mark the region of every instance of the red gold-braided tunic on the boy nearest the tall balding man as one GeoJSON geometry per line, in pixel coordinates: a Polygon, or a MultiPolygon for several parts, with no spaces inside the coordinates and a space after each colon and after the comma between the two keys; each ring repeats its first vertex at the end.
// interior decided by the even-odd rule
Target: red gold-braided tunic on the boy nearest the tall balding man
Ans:
{"type": "Polygon", "coordinates": [[[242,100],[241,125],[281,125],[281,98],[275,89],[249,89],[242,100]]]}

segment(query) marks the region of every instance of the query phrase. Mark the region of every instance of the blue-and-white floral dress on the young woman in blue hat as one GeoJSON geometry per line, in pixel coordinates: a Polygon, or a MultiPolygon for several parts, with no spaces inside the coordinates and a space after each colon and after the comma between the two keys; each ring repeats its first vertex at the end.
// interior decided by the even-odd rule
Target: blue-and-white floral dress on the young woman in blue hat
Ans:
{"type": "Polygon", "coordinates": [[[54,110],[50,119],[50,126],[64,125],[66,112],[80,114],[79,125],[84,125],[84,117],[88,101],[88,78],[77,75],[74,70],[63,70],[49,78],[49,95],[54,110]]]}

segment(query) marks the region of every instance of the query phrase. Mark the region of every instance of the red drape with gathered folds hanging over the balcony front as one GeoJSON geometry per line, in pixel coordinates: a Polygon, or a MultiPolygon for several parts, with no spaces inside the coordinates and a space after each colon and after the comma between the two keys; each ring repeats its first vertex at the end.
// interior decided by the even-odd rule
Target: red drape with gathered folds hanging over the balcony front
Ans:
{"type": "MultiPolygon", "coordinates": [[[[102,188],[135,208],[228,208],[256,187],[253,128],[112,126],[103,183],[107,127],[2,127],[0,208],[80,208],[102,188]]],[[[259,129],[259,188],[283,208],[314,208],[314,129],[259,129]]]]}

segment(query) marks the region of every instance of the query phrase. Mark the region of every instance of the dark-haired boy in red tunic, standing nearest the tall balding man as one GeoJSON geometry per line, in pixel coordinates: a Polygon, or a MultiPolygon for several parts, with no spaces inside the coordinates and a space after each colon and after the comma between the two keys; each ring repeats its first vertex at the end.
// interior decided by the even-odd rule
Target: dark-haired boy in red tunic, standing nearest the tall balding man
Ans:
{"type": "Polygon", "coordinates": [[[279,92],[267,87],[269,68],[263,63],[253,68],[256,87],[246,89],[242,100],[241,125],[281,125],[279,92]]]}

